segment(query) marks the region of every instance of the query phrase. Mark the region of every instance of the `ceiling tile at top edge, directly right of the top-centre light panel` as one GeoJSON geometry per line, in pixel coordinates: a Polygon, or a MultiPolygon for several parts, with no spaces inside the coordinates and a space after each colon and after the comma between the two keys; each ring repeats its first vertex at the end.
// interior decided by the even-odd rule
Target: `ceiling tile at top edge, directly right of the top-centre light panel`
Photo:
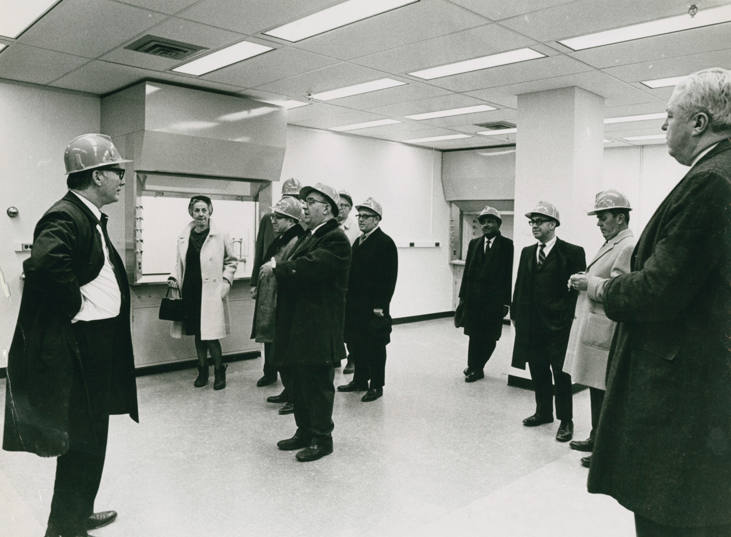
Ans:
{"type": "Polygon", "coordinates": [[[444,0],[420,0],[415,4],[310,37],[295,46],[349,60],[481,26],[487,22],[480,15],[444,0]]]}

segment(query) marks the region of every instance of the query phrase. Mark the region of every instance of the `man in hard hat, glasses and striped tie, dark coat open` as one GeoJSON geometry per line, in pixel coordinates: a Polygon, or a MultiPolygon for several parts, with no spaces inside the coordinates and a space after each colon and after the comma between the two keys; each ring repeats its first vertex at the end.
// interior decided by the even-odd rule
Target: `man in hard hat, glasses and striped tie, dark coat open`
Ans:
{"type": "Polygon", "coordinates": [[[539,201],[526,214],[537,244],[520,252],[518,277],[510,307],[515,326],[512,367],[531,368],[536,394],[536,412],[523,420],[526,427],[553,421],[553,383],[556,384],[556,417],[561,425],[556,440],[568,442],[574,433],[571,375],[562,371],[578,293],[569,288],[569,277],[586,270],[582,247],[561,241],[561,225],[551,203],[539,201]]]}

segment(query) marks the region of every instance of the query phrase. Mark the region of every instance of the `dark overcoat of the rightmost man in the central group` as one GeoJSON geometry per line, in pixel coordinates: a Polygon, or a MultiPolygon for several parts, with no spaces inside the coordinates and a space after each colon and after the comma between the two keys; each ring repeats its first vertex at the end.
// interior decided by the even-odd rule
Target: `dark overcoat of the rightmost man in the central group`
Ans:
{"type": "Polygon", "coordinates": [[[388,335],[373,334],[370,325],[376,318],[373,312],[376,308],[383,309],[384,318],[390,320],[397,275],[396,244],[381,228],[376,228],[363,244],[360,239],[355,241],[345,301],[346,342],[363,337],[383,344],[390,342],[388,335]]]}

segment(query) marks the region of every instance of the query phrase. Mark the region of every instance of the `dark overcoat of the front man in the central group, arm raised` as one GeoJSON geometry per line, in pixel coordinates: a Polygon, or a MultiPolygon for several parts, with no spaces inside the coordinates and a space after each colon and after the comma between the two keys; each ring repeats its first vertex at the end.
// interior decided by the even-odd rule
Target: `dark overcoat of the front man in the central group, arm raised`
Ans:
{"type": "Polygon", "coordinates": [[[300,237],[289,260],[276,264],[274,365],[333,365],[345,358],[350,255],[350,241],[333,218],[300,237]]]}

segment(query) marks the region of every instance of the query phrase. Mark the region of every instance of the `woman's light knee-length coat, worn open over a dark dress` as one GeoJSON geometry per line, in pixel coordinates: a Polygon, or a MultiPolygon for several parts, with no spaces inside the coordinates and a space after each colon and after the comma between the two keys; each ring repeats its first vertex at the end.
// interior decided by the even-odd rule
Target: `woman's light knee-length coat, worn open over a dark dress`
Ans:
{"type": "MultiPolygon", "coordinates": [[[[178,260],[173,272],[178,285],[182,288],[185,276],[185,258],[188,253],[190,232],[195,222],[190,222],[178,237],[178,260]]],[[[208,232],[200,249],[200,274],[203,279],[203,291],[200,301],[200,339],[221,339],[231,331],[229,320],[228,296],[221,299],[221,286],[224,278],[233,283],[238,262],[233,252],[233,243],[229,234],[218,228],[213,218],[208,221],[211,230],[208,232]]],[[[180,338],[185,333],[181,321],[173,321],[170,335],[180,338]]]]}

